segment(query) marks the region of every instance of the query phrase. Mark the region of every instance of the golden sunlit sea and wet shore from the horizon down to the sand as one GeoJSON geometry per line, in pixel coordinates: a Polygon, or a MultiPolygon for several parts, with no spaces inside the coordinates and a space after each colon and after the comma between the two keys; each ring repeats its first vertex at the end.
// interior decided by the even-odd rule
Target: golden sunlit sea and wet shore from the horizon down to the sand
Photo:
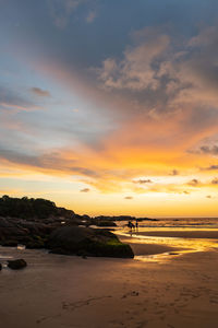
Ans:
{"type": "Polygon", "coordinates": [[[146,220],[138,222],[138,227],[133,230],[126,224],[119,222],[116,233],[132,245],[137,260],[161,262],[189,253],[218,250],[218,218],[146,220]]]}

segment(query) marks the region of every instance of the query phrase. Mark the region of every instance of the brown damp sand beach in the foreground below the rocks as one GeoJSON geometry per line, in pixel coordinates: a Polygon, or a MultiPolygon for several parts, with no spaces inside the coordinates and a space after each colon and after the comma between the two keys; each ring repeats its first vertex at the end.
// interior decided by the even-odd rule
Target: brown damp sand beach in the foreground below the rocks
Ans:
{"type": "Polygon", "coordinates": [[[164,261],[49,255],[0,248],[28,267],[0,272],[3,328],[215,328],[218,253],[164,261]]]}

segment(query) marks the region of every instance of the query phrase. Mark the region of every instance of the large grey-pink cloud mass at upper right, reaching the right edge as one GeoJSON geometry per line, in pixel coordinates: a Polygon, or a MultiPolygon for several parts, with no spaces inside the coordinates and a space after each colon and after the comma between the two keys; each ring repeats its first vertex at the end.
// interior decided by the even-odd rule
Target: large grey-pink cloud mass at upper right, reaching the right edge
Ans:
{"type": "Polygon", "coordinates": [[[135,32],[122,58],[106,58],[95,70],[99,87],[129,98],[132,108],[156,119],[166,113],[182,113],[187,132],[217,124],[216,28],[206,33],[210,35],[207,43],[201,31],[181,42],[181,47],[162,31],[146,27],[135,32]]]}

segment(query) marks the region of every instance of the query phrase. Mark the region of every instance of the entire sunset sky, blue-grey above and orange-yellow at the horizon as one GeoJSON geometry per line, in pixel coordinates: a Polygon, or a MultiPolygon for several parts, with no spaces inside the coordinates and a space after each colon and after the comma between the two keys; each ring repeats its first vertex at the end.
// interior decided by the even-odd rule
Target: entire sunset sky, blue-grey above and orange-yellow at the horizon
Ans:
{"type": "Polygon", "coordinates": [[[0,0],[0,196],[218,216],[218,1],[0,0]]]}

